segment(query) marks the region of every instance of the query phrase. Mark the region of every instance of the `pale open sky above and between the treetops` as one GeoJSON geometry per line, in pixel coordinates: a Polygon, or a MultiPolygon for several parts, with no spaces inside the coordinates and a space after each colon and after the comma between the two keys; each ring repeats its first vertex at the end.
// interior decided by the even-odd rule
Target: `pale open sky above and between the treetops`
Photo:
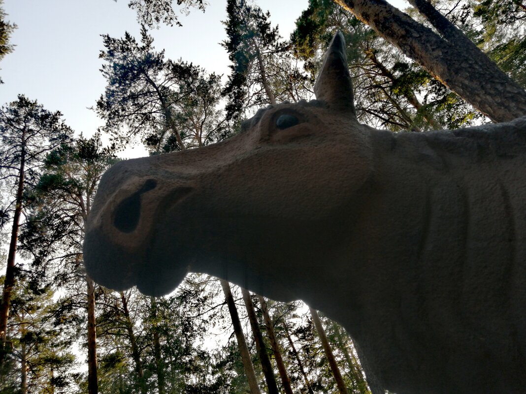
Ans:
{"type": "MultiPolygon", "coordinates": [[[[150,34],[156,49],[166,50],[166,58],[182,58],[226,76],[229,60],[219,45],[226,39],[220,22],[227,18],[226,1],[209,3],[205,13],[193,9],[181,15],[183,27],[162,26],[150,34]]],[[[128,0],[5,0],[7,20],[18,28],[11,38],[15,50],[0,62],[4,80],[0,105],[24,94],[48,110],[60,110],[77,133],[91,136],[103,125],[87,109],[95,105],[106,84],[99,71],[100,35],[122,37],[128,31],[140,37],[136,13],[127,4],[128,0]]],[[[272,25],[278,24],[281,36],[288,38],[308,0],[259,0],[257,4],[270,11],[272,25]]],[[[398,6],[402,0],[391,4],[398,6]]],[[[136,148],[125,151],[123,157],[145,154],[144,149],[136,148]]]]}

